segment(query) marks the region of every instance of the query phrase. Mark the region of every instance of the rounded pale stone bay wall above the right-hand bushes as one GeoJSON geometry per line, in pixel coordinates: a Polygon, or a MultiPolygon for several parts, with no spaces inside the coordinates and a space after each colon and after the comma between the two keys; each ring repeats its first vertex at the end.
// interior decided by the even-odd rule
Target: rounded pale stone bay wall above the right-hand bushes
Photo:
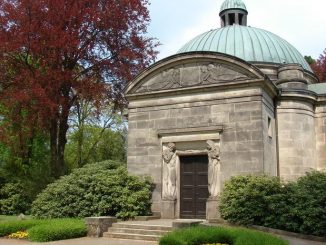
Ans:
{"type": "Polygon", "coordinates": [[[277,119],[279,173],[295,180],[317,167],[314,106],[309,100],[281,100],[277,119]]]}

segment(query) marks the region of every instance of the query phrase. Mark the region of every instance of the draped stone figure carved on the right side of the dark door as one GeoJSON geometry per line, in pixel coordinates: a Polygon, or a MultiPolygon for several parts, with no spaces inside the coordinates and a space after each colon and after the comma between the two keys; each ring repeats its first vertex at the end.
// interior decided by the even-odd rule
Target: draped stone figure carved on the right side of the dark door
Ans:
{"type": "Polygon", "coordinates": [[[221,163],[220,147],[218,143],[207,140],[208,153],[208,192],[211,198],[215,198],[221,191],[221,163]]]}

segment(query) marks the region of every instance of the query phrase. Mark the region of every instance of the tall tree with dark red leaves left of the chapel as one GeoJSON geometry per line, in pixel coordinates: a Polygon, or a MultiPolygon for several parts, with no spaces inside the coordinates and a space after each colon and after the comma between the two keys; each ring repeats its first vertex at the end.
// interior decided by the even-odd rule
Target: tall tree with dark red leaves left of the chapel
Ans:
{"type": "Polygon", "coordinates": [[[68,117],[78,99],[120,107],[126,82],[154,61],[157,44],[145,36],[147,5],[148,0],[0,1],[1,116],[11,123],[2,123],[2,140],[10,138],[6,127],[27,141],[45,132],[53,175],[60,176],[68,117]]]}

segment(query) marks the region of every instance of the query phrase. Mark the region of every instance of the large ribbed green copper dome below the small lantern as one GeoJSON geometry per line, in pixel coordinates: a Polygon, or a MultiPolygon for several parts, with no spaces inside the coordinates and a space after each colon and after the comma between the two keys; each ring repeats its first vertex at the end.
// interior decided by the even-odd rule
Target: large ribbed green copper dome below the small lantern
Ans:
{"type": "Polygon", "coordinates": [[[178,53],[192,51],[220,52],[248,62],[295,63],[312,71],[290,43],[269,31],[254,27],[230,25],[208,31],[192,39],[178,53]]]}

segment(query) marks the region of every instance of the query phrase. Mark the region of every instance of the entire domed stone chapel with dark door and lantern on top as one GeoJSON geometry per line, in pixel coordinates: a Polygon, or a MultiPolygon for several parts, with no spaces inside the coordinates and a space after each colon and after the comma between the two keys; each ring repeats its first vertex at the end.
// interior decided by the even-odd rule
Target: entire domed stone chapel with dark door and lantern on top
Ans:
{"type": "Polygon", "coordinates": [[[225,0],[221,28],[129,83],[128,170],[152,176],[162,218],[218,218],[233,175],[293,180],[326,168],[326,89],[284,39],[225,0]]]}

